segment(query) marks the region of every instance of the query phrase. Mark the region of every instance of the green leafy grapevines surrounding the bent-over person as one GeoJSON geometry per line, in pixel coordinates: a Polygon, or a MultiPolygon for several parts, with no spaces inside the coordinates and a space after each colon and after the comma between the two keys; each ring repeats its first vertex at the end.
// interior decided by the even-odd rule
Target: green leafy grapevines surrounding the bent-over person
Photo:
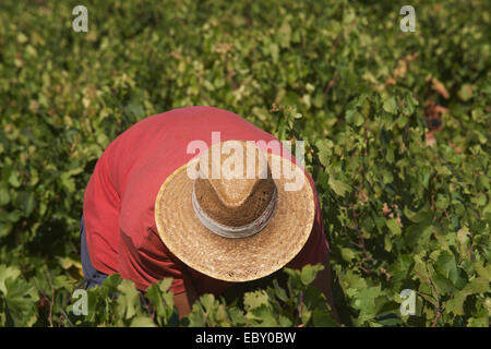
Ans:
{"type": "Polygon", "coordinates": [[[193,105],[307,142],[343,325],[490,325],[490,2],[414,0],[414,33],[399,1],[86,0],[74,33],[80,3],[0,2],[0,325],[335,325],[316,267],[181,321],[168,280],[143,297],[117,275],[71,311],[95,163],[193,105]]]}

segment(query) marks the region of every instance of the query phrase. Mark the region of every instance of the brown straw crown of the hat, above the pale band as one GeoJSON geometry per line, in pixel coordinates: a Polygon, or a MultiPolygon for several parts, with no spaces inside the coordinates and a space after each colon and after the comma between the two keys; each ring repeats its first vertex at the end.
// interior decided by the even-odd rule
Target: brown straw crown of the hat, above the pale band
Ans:
{"type": "Polygon", "coordinates": [[[275,183],[266,156],[243,141],[218,143],[200,157],[194,182],[203,212],[220,225],[254,222],[275,200],[275,183]]]}

